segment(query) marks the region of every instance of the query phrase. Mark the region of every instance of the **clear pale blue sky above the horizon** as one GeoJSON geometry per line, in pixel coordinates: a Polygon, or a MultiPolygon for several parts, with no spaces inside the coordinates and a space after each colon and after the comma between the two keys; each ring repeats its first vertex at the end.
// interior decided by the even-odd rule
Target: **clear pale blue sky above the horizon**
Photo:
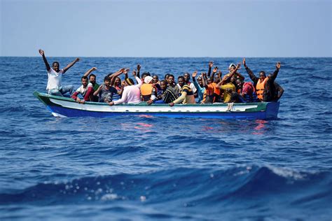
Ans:
{"type": "Polygon", "coordinates": [[[332,1],[1,1],[1,56],[332,57],[332,1]]]}

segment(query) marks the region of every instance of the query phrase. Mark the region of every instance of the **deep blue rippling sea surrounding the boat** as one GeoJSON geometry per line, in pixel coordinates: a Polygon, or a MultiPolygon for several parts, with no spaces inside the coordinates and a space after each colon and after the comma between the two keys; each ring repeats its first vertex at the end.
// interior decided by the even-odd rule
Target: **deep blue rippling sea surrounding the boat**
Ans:
{"type": "MultiPolygon", "coordinates": [[[[92,66],[102,83],[138,63],[162,78],[210,60],[226,73],[242,58],[81,57],[63,85],[92,66]]],[[[0,220],[332,220],[332,58],[247,65],[278,61],[277,120],[56,118],[32,95],[46,91],[41,57],[0,57],[0,220]]]]}

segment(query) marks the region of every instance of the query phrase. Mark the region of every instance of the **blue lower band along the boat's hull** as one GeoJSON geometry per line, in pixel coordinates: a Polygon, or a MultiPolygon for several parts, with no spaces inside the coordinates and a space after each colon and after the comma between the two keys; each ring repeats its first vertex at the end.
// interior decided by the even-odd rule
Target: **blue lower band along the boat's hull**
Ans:
{"type": "Polygon", "coordinates": [[[279,103],[269,106],[267,112],[219,112],[219,113],[116,113],[116,112],[97,112],[89,110],[76,110],[63,108],[60,106],[47,106],[53,113],[58,113],[66,117],[114,117],[120,115],[151,115],[156,117],[195,117],[195,118],[216,118],[216,119],[249,119],[264,120],[277,118],[279,103]],[[268,113],[268,115],[267,115],[268,113]]]}

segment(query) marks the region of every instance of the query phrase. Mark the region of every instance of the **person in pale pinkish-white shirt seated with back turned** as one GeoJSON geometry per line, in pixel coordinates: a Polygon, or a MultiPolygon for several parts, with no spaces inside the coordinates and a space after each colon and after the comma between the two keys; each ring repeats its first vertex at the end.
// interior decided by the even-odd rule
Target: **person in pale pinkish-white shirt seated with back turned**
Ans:
{"type": "Polygon", "coordinates": [[[118,101],[111,101],[109,103],[110,106],[116,104],[138,104],[141,102],[141,91],[139,90],[141,87],[141,79],[136,76],[136,71],[132,71],[132,74],[136,78],[138,84],[134,85],[134,80],[132,80],[132,78],[126,78],[121,99],[118,101]]]}

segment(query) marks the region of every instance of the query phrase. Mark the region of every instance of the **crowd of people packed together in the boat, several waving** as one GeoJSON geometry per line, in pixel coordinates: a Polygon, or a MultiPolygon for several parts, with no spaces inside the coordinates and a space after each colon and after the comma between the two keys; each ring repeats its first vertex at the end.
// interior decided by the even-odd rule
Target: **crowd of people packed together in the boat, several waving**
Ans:
{"type": "Polygon", "coordinates": [[[218,66],[209,62],[207,73],[198,75],[198,71],[192,74],[184,73],[175,81],[174,75],[167,73],[164,79],[160,80],[157,75],[151,76],[144,72],[140,76],[141,66],[132,71],[133,78],[128,76],[129,69],[120,69],[115,73],[109,73],[104,77],[104,83],[97,83],[97,76],[92,67],[81,78],[82,85],[74,91],[74,86],[62,85],[62,74],[66,73],[71,66],[79,61],[78,58],[69,63],[64,69],[60,69],[59,62],[53,62],[52,67],[43,50],[39,50],[43,57],[48,72],[48,94],[56,96],[69,96],[80,104],[86,101],[104,102],[110,106],[117,104],[138,104],[146,102],[151,104],[213,104],[213,103],[249,103],[278,101],[284,93],[283,88],[275,82],[279,73],[280,62],[277,62],[275,71],[266,75],[260,71],[259,76],[249,69],[246,59],[242,64],[246,69],[251,82],[244,81],[244,76],[238,72],[241,64],[230,64],[228,73],[222,76],[218,66]],[[121,80],[120,76],[124,76],[121,80]]]}

